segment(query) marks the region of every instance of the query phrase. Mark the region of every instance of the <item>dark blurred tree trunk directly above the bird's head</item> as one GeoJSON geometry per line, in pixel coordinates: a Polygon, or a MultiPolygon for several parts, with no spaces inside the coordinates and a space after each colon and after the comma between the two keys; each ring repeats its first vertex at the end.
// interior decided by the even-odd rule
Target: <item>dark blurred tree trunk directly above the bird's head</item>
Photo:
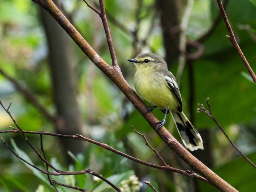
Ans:
{"type": "Polygon", "coordinates": [[[166,50],[166,62],[168,66],[173,65],[177,60],[179,51],[179,11],[177,0],[156,0],[156,4],[161,15],[163,29],[164,46],[166,50]],[[171,30],[170,30],[171,29],[171,30]]]}

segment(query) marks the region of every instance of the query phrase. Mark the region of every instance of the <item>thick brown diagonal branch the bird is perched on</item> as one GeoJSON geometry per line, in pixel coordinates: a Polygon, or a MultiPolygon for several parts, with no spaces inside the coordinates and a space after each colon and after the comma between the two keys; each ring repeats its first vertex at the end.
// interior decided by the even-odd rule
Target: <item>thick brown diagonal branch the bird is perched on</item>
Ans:
{"type": "MultiPolygon", "coordinates": [[[[130,85],[126,82],[122,76],[121,70],[118,66],[110,66],[106,63],[88,42],[81,36],[81,34],[74,28],[69,20],[60,12],[56,5],[51,0],[32,0],[40,4],[46,9],[52,17],[63,27],[63,29],[69,34],[69,36],[76,42],[81,50],[88,56],[88,58],[108,76],[118,88],[125,94],[125,96],[132,102],[135,108],[143,115],[146,121],[155,130],[157,127],[157,118],[151,113],[145,114],[146,105],[138,97],[138,95],[132,90],[130,85]]],[[[103,1],[102,1],[103,3],[103,1]]],[[[157,134],[167,144],[167,146],[173,150],[180,158],[182,158],[188,165],[202,174],[212,185],[221,191],[237,191],[225,180],[220,178],[211,169],[201,163],[197,158],[190,154],[164,127],[157,131],[157,134]]]]}

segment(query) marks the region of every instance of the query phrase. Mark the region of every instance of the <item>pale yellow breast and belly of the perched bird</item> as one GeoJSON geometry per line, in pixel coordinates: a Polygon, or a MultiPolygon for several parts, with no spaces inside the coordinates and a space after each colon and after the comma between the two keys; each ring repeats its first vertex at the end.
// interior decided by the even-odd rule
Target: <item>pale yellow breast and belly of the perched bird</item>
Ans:
{"type": "Polygon", "coordinates": [[[179,102],[168,88],[163,75],[153,74],[149,67],[137,68],[133,82],[137,92],[148,103],[161,109],[177,111],[179,102]]]}

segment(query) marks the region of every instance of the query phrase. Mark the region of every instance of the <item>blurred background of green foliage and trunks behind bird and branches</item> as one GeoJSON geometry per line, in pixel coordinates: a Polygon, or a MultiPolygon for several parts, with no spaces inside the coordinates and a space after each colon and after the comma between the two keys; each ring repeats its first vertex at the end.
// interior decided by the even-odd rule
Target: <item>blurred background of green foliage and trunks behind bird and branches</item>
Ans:
{"type": "MultiPolygon", "coordinates": [[[[111,57],[98,14],[82,0],[54,1],[89,44],[109,64],[111,57]]],[[[98,1],[88,1],[99,10],[98,1]]],[[[236,39],[256,71],[256,2],[223,1],[236,39]]],[[[232,141],[256,162],[256,87],[242,60],[225,36],[227,28],[212,0],[105,1],[112,40],[123,76],[133,87],[135,67],[127,59],[154,52],[166,59],[177,77],[184,111],[202,135],[205,149],[193,154],[239,191],[255,189],[255,169],[231,146],[197,103],[211,110],[232,141]],[[185,31],[180,24],[191,3],[185,31]],[[183,68],[179,42],[195,56],[183,68]]],[[[27,131],[82,134],[147,162],[161,165],[135,129],[170,166],[191,169],[166,147],[122,92],[83,54],[57,22],[29,0],[1,0],[0,100],[27,131]],[[25,91],[24,91],[25,90],[25,91]],[[40,105],[40,106],[39,106],[40,105]]],[[[159,120],[164,114],[154,110],[159,120]]],[[[173,120],[166,127],[179,140],[173,120]]],[[[170,121],[169,121],[170,119],[170,121]]],[[[0,130],[14,126],[0,109],[0,130]]],[[[20,155],[44,167],[20,134],[2,133],[20,155]]],[[[38,135],[26,135],[39,149],[38,135]]],[[[61,170],[90,168],[116,183],[137,190],[149,180],[158,191],[218,191],[183,175],[131,162],[102,148],[76,140],[44,136],[44,150],[61,170]],[[136,177],[134,176],[136,175],[136,177]],[[121,182],[125,180],[125,182],[121,182]]],[[[0,191],[55,191],[45,175],[35,172],[0,143],[0,191]],[[33,182],[31,182],[33,180],[33,182]]],[[[52,177],[93,191],[113,191],[90,175],[52,177]]],[[[59,191],[74,191],[59,187],[59,191]]],[[[140,191],[152,191],[143,185],[140,191]]]]}

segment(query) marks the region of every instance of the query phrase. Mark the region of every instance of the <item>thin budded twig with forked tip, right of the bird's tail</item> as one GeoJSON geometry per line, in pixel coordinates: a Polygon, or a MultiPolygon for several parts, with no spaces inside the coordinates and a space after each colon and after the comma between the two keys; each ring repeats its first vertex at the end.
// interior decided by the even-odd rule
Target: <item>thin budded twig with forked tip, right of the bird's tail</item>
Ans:
{"type": "Polygon", "coordinates": [[[229,142],[231,143],[231,145],[246,159],[246,161],[248,161],[255,169],[256,169],[256,165],[254,163],[252,163],[252,161],[246,157],[240,150],[239,148],[234,144],[233,141],[231,141],[231,139],[229,138],[229,136],[227,135],[227,133],[224,131],[224,129],[222,128],[222,126],[219,124],[219,122],[215,119],[215,117],[213,116],[212,112],[211,112],[211,108],[210,108],[210,103],[209,103],[209,98],[206,99],[206,103],[208,105],[208,110],[205,109],[203,104],[199,104],[198,106],[199,108],[197,109],[197,112],[205,112],[205,114],[207,114],[220,128],[220,130],[224,133],[224,135],[227,137],[227,139],[229,140],[229,142]]]}

